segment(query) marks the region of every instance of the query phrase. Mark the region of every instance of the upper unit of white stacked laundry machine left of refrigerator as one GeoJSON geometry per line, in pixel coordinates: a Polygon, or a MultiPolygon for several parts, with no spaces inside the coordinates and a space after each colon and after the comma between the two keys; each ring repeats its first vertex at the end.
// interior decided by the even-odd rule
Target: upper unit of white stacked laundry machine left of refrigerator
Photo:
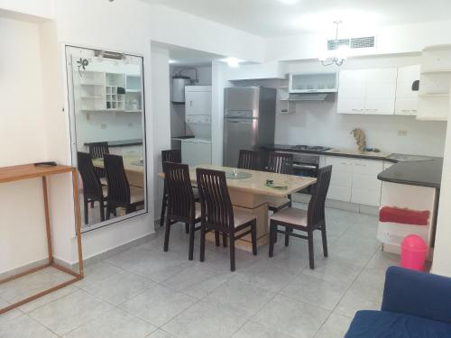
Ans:
{"type": "Polygon", "coordinates": [[[211,115],[211,86],[186,86],[185,105],[187,115],[211,115]]]}

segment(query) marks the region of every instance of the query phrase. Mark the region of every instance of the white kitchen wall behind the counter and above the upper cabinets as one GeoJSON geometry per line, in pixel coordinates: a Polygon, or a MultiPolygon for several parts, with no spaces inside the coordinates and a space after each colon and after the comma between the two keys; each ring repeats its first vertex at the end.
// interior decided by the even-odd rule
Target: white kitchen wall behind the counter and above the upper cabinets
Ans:
{"type": "MultiPolygon", "coordinates": [[[[348,59],[341,69],[400,67],[419,63],[419,56],[364,57],[348,59]]],[[[288,72],[339,71],[323,67],[318,61],[291,61],[288,72]]],[[[288,81],[239,81],[242,85],[260,84],[267,87],[287,85],[288,81]]],[[[278,105],[280,103],[278,102],[278,105]]],[[[296,105],[296,113],[277,114],[275,142],[280,144],[312,144],[354,149],[350,131],[362,128],[368,147],[387,152],[443,156],[446,123],[419,122],[413,116],[377,116],[336,114],[336,96],[325,102],[303,102],[296,105]],[[407,131],[407,136],[398,136],[407,131]]]]}

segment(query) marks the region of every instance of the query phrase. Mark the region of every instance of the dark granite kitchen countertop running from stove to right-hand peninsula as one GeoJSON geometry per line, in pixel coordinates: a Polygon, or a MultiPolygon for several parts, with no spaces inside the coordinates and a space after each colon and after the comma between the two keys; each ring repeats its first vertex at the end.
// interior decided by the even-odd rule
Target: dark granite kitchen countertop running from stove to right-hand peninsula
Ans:
{"type": "Polygon", "coordinates": [[[291,151],[327,156],[340,156],[365,160],[386,160],[393,164],[390,168],[383,170],[377,178],[391,183],[407,184],[419,187],[440,188],[442,178],[443,159],[430,156],[415,156],[392,154],[384,152],[343,151],[330,149],[327,151],[303,151],[293,149],[285,144],[267,144],[262,146],[269,151],[291,151]]]}

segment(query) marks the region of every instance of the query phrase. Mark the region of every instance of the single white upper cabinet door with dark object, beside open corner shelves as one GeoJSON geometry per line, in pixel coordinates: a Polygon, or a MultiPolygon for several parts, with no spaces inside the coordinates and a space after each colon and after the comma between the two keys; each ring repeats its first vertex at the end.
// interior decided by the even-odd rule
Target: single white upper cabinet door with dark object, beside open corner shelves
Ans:
{"type": "Polygon", "coordinates": [[[396,85],[396,115],[416,115],[419,92],[412,90],[412,85],[419,80],[419,65],[406,66],[398,69],[396,85]]]}

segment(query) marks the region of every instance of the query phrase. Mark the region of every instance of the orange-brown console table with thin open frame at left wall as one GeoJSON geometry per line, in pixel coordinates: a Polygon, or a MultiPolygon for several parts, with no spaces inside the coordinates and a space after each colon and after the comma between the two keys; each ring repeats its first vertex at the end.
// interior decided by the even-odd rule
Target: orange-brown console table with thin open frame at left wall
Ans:
{"type": "MultiPolygon", "coordinates": [[[[18,273],[14,276],[8,277],[6,279],[0,279],[0,284],[12,281],[14,279],[19,279],[23,276],[29,275],[33,272],[39,271],[41,269],[45,269],[48,267],[53,267],[55,269],[60,269],[63,272],[68,273],[73,276],[73,279],[69,279],[59,285],[56,285],[52,288],[48,288],[43,290],[31,297],[27,297],[19,302],[6,306],[0,309],[0,314],[3,314],[9,310],[14,309],[17,306],[22,306],[25,303],[31,302],[32,300],[45,296],[53,291],[56,291],[60,288],[64,288],[69,284],[75,283],[79,279],[83,279],[83,255],[81,248],[81,233],[80,233],[80,211],[79,211],[79,202],[78,202],[78,173],[77,169],[69,166],[54,166],[54,167],[35,167],[33,164],[24,164],[13,167],[4,167],[0,168],[0,184],[6,182],[14,182],[23,179],[29,178],[41,178],[42,179],[42,190],[43,190],[43,199],[44,199],[44,211],[45,211],[45,232],[47,233],[47,246],[49,251],[49,261],[48,263],[41,265],[39,267],[35,267],[32,269],[28,269],[21,273],[18,273]],[[51,221],[50,221],[50,213],[49,213],[49,196],[47,192],[47,178],[51,175],[58,175],[63,173],[70,173],[72,175],[73,181],[73,196],[74,196],[74,212],[75,212],[75,230],[77,235],[77,244],[78,244],[78,272],[75,272],[71,269],[67,269],[65,267],[60,266],[60,264],[56,263],[53,260],[53,250],[51,243],[51,221]]],[[[0,186],[1,188],[1,186],[0,186]]],[[[42,229],[44,231],[44,229],[42,229]]]]}

